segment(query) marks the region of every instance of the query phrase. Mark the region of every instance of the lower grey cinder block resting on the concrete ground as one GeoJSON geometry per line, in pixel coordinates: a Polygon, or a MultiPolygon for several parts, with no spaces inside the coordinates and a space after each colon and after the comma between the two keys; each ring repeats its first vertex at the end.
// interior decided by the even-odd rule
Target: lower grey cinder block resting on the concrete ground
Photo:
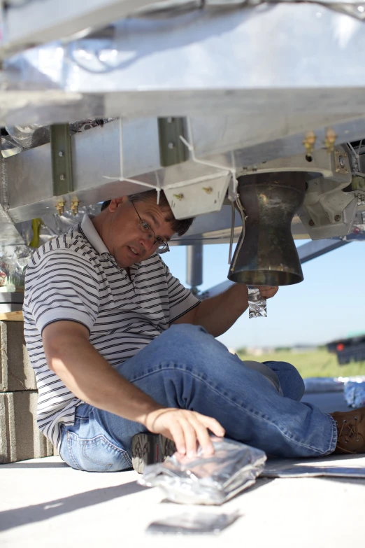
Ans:
{"type": "Polygon", "coordinates": [[[0,463],[52,456],[52,443],[36,424],[38,393],[0,393],[0,463]]]}

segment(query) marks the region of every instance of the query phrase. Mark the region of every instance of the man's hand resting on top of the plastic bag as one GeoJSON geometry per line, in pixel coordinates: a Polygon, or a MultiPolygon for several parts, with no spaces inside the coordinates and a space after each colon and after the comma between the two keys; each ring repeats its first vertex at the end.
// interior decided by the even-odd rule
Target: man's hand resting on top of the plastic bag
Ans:
{"type": "Polygon", "coordinates": [[[157,409],[148,414],[144,423],[150,432],[173,440],[178,452],[187,456],[196,455],[196,442],[199,442],[204,453],[214,453],[208,428],[216,436],[224,436],[224,428],[218,421],[187,409],[157,409]]]}

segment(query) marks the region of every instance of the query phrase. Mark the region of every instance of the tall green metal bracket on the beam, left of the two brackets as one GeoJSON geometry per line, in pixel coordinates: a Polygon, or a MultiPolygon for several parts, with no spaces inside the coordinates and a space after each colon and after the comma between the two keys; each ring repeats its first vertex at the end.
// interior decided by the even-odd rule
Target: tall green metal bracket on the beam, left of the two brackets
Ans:
{"type": "Polygon", "coordinates": [[[50,126],[53,195],[62,196],[73,191],[72,152],[69,124],[50,126]]]}

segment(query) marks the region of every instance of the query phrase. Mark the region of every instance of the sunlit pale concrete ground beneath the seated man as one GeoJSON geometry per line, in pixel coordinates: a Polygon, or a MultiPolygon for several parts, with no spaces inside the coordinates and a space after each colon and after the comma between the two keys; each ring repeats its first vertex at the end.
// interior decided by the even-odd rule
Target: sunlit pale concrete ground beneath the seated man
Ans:
{"type": "MultiPolygon", "coordinates": [[[[339,409],[342,398],[342,393],[332,394],[330,403],[335,407],[331,410],[339,409]]],[[[324,400],[324,406],[329,404],[329,398],[320,395],[303,398],[313,399],[317,403],[324,400]]],[[[301,462],[365,470],[365,456],[301,462]]],[[[201,548],[207,542],[213,548],[237,544],[249,548],[364,545],[365,479],[258,479],[222,507],[192,507],[164,501],[158,489],[138,486],[137,477],[134,471],[80,472],[58,457],[1,465],[0,546],[103,548],[113,543],[113,547],[153,548],[169,543],[174,548],[201,548]],[[151,521],[182,512],[221,514],[235,510],[241,517],[220,535],[187,538],[145,532],[151,521]]]]}

